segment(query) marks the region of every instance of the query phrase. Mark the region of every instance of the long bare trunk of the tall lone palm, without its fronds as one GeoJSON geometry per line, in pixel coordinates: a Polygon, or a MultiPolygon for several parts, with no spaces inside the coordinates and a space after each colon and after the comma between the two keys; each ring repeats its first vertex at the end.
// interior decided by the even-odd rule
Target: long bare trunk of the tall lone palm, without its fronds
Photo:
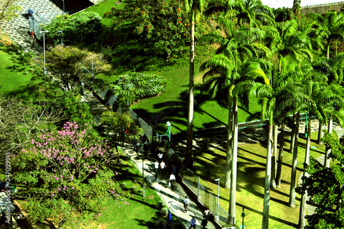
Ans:
{"type": "Polygon", "coordinates": [[[190,65],[189,65],[189,113],[186,133],[186,155],[185,164],[193,166],[193,75],[195,69],[195,12],[191,12],[191,43],[190,43],[190,65]]]}

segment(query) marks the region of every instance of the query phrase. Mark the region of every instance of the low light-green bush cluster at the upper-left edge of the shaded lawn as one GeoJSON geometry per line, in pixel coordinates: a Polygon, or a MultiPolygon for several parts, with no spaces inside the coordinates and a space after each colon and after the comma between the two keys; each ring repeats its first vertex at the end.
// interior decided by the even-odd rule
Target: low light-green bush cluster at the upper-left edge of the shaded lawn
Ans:
{"type": "Polygon", "coordinates": [[[129,104],[142,98],[149,98],[164,92],[166,79],[155,74],[145,74],[135,72],[133,74],[123,75],[111,84],[111,90],[117,96],[120,105],[129,104]]]}

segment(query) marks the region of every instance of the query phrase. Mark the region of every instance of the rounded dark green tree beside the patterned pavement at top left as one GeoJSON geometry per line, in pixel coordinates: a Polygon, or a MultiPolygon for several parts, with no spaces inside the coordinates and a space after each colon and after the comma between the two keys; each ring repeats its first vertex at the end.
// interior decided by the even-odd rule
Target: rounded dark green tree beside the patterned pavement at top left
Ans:
{"type": "Polygon", "coordinates": [[[81,12],[76,16],[69,14],[58,15],[43,30],[49,31],[46,42],[49,45],[88,45],[96,41],[97,36],[103,31],[102,18],[96,12],[81,12]],[[58,31],[62,31],[58,32],[58,31]]]}

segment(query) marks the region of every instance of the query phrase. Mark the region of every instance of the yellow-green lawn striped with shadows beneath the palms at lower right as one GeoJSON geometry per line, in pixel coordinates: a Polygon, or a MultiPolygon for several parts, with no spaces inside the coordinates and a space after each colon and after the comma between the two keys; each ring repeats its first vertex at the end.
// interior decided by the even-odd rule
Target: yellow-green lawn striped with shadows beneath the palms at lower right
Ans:
{"type": "MultiPolygon", "coordinates": [[[[316,150],[310,150],[314,158],[323,154],[325,146],[315,143],[317,132],[312,133],[311,146],[316,150]]],[[[281,186],[270,190],[270,228],[294,228],[299,220],[300,195],[297,195],[296,208],[288,207],[290,193],[290,175],[292,154],[288,153],[290,143],[288,138],[284,144],[283,166],[281,186]]],[[[217,195],[217,182],[214,179],[220,178],[221,186],[224,185],[224,162],[226,160],[225,149],[214,149],[210,147],[207,152],[196,151],[195,173],[200,175],[201,184],[213,195],[217,195]]],[[[300,138],[297,179],[301,174],[305,157],[305,139],[300,138]]],[[[238,146],[237,163],[237,225],[241,225],[241,212],[245,208],[245,226],[247,228],[260,228],[263,212],[264,178],[266,164],[266,144],[244,144],[238,146]]],[[[229,190],[219,189],[219,204],[228,211],[229,190]]]]}

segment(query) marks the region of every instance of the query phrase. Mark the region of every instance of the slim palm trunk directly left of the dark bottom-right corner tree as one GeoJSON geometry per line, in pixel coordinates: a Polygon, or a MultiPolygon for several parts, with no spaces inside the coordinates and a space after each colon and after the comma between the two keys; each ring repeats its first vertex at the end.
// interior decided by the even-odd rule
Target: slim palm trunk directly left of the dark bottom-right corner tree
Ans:
{"type": "MultiPolygon", "coordinates": [[[[310,117],[312,117],[311,113],[310,113],[310,117]]],[[[308,176],[308,173],[306,173],[305,169],[307,168],[307,166],[310,162],[310,122],[312,122],[311,118],[309,118],[309,122],[308,122],[307,143],[305,146],[305,163],[303,164],[303,177],[308,176]]],[[[303,180],[303,185],[304,185],[304,180],[303,180]]],[[[301,204],[300,204],[300,214],[299,214],[299,229],[305,228],[306,199],[307,199],[307,190],[305,190],[305,193],[301,194],[301,204]]]]}

